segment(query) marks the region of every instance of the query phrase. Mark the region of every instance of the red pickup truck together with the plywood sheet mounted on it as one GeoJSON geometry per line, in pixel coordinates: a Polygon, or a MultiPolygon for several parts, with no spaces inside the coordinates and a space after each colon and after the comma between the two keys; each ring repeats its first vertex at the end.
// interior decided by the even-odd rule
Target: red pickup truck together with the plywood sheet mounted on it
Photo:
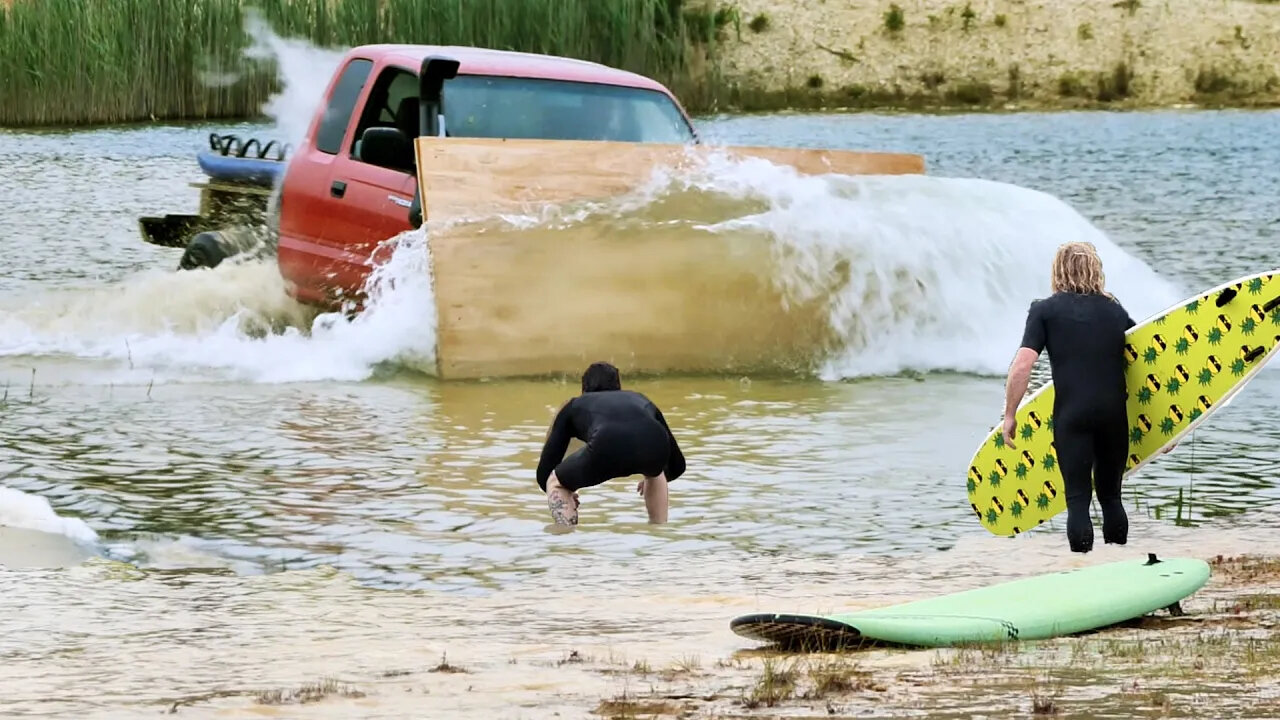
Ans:
{"type": "Polygon", "coordinates": [[[595,202],[636,190],[655,164],[721,151],[804,174],[924,169],[910,154],[708,147],[649,78],[415,45],[348,51],[285,161],[291,150],[211,136],[202,211],[142,218],[143,236],[184,247],[182,268],[274,252],[289,295],[355,313],[384,241],[425,214],[442,379],[575,373],[602,359],[628,373],[805,370],[840,343],[831,299],[788,297],[762,233],[474,220],[595,202]]]}

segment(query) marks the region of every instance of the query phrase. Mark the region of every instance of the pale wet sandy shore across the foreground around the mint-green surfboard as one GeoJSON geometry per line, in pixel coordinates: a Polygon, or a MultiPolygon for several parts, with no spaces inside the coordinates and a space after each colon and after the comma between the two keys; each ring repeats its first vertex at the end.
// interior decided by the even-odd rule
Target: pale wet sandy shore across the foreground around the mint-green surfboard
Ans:
{"type": "Polygon", "coordinates": [[[1215,716],[1261,712],[1280,671],[1280,559],[1251,566],[1220,553],[1274,547],[1280,530],[1138,521],[1132,537],[1088,556],[1056,534],[972,538],[896,561],[564,555],[539,580],[466,598],[370,589],[328,569],[246,577],[91,560],[14,570],[0,596],[4,705],[78,717],[960,717],[1025,714],[1038,693],[1101,717],[1133,708],[1140,691],[1171,698],[1169,716],[1204,702],[1215,716]],[[1183,618],[1158,611],[1002,651],[781,653],[728,629],[748,612],[872,607],[1152,550],[1213,562],[1183,618]],[[650,582],[640,589],[626,582],[635,577],[650,582]],[[37,637],[37,652],[20,651],[37,637]],[[1201,688],[1219,689],[1197,700],[1201,688]]]}

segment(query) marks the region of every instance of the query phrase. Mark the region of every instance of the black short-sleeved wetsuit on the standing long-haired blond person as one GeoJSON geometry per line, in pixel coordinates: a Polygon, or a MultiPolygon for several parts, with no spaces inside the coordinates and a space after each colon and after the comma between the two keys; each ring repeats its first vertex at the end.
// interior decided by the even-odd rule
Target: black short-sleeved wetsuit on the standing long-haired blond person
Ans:
{"type": "Polygon", "coordinates": [[[1023,347],[1048,350],[1053,445],[1066,486],[1066,538],[1076,552],[1093,548],[1089,500],[1094,488],[1106,542],[1124,544],[1129,534],[1120,479],[1129,447],[1124,333],[1133,325],[1120,302],[1105,295],[1057,292],[1032,302],[1027,313],[1023,347]]]}

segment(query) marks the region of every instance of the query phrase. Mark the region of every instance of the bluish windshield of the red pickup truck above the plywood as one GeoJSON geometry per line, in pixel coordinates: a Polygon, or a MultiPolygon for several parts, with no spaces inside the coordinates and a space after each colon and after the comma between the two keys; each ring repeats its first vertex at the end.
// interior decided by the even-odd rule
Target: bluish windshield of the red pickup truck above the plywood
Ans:
{"type": "Polygon", "coordinates": [[[691,142],[669,97],[653,90],[588,82],[457,76],[444,85],[452,137],[691,142]]]}

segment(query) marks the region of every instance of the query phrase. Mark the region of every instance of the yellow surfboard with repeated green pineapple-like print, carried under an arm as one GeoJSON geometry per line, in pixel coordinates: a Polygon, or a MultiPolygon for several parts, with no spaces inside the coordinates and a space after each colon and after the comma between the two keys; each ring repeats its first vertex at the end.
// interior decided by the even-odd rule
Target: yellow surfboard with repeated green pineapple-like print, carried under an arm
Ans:
{"type": "MultiPolygon", "coordinates": [[[[1129,460],[1125,475],[1176,445],[1225,405],[1280,348],[1280,269],[1236,278],[1138,323],[1125,334],[1129,460]]],[[[1018,407],[969,462],[969,507],[987,530],[1015,536],[1066,510],[1053,446],[1053,384],[1018,407]]]]}

